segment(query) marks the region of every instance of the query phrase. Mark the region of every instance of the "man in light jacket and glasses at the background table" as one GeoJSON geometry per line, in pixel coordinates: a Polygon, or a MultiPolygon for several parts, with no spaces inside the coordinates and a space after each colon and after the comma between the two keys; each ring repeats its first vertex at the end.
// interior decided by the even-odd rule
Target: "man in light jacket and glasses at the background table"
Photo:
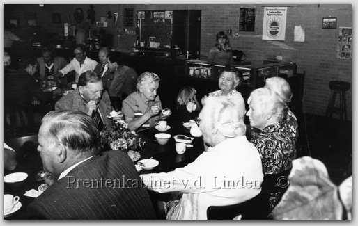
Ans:
{"type": "Polygon", "coordinates": [[[59,70],[55,76],[62,77],[69,72],[75,71],[75,82],[78,82],[79,75],[88,70],[94,70],[98,62],[86,56],[86,47],[84,45],[76,45],[73,53],[75,54],[75,58],[73,58],[68,65],[59,70]]]}

